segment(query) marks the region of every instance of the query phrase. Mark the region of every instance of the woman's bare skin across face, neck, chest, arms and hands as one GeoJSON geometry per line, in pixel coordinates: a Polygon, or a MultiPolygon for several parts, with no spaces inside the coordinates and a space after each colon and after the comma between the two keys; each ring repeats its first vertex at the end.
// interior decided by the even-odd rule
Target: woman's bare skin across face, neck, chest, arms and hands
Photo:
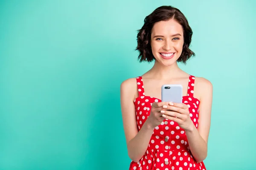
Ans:
{"type": "MultiPolygon", "coordinates": [[[[145,96],[161,99],[161,86],[163,84],[181,84],[183,86],[183,96],[187,95],[189,74],[182,71],[177,65],[182,46],[183,30],[179,23],[175,20],[169,20],[160,21],[154,25],[151,34],[151,48],[156,60],[154,66],[142,75],[145,96]],[[174,34],[180,35],[172,36],[174,34]],[[161,37],[158,35],[161,35],[161,37]],[[171,52],[175,55],[172,59],[163,59],[160,55],[163,52],[171,52]]],[[[144,155],[154,127],[160,125],[164,119],[177,122],[185,130],[191,153],[197,162],[201,162],[207,157],[212,108],[212,84],[209,80],[195,77],[194,97],[200,100],[198,128],[193,125],[189,117],[187,105],[154,102],[148,119],[138,132],[134,106],[134,99],[138,97],[136,79],[131,78],[122,82],[120,92],[128,155],[133,161],[139,161],[144,155]]]]}

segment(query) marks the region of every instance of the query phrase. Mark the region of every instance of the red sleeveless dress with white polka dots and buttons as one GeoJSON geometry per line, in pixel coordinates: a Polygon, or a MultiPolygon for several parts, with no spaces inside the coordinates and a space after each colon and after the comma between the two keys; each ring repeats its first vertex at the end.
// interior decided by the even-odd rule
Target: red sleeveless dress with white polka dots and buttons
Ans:
{"type": "MultiPolygon", "coordinates": [[[[148,118],[153,102],[160,99],[145,96],[143,79],[136,77],[139,96],[134,100],[138,130],[148,118]]],[[[189,75],[187,96],[183,103],[189,107],[189,115],[195,127],[198,127],[199,103],[193,97],[195,77],[189,75]]],[[[197,163],[189,150],[185,131],[171,120],[165,119],[155,127],[148,148],[138,162],[131,161],[129,170],[206,170],[204,163],[197,163]]]]}

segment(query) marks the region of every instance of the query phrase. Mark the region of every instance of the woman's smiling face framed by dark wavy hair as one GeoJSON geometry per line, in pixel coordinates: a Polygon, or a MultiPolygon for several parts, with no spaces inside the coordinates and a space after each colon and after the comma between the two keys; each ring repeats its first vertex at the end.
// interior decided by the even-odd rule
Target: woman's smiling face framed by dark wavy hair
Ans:
{"type": "Polygon", "coordinates": [[[151,48],[156,62],[172,65],[180,57],[183,48],[183,28],[175,20],[154,24],[151,33],[151,48]]]}

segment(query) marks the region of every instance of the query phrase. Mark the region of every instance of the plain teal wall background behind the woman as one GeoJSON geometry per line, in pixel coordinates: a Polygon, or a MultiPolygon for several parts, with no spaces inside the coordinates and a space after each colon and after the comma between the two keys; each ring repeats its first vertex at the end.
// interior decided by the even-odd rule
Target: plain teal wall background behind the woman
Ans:
{"type": "Polygon", "coordinates": [[[255,170],[253,0],[1,0],[0,169],[128,170],[119,88],[137,29],[162,5],[194,32],[189,74],[214,88],[207,170],[255,170]]]}

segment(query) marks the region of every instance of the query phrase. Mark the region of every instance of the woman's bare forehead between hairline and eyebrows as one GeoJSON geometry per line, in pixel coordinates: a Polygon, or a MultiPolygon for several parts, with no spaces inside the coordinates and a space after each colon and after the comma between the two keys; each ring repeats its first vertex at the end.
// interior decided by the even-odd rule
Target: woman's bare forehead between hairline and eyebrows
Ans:
{"type": "Polygon", "coordinates": [[[183,36],[183,28],[175,20],[159,21],[152,28],[152,35],[171,35],[180,33],[183,36]]]}

